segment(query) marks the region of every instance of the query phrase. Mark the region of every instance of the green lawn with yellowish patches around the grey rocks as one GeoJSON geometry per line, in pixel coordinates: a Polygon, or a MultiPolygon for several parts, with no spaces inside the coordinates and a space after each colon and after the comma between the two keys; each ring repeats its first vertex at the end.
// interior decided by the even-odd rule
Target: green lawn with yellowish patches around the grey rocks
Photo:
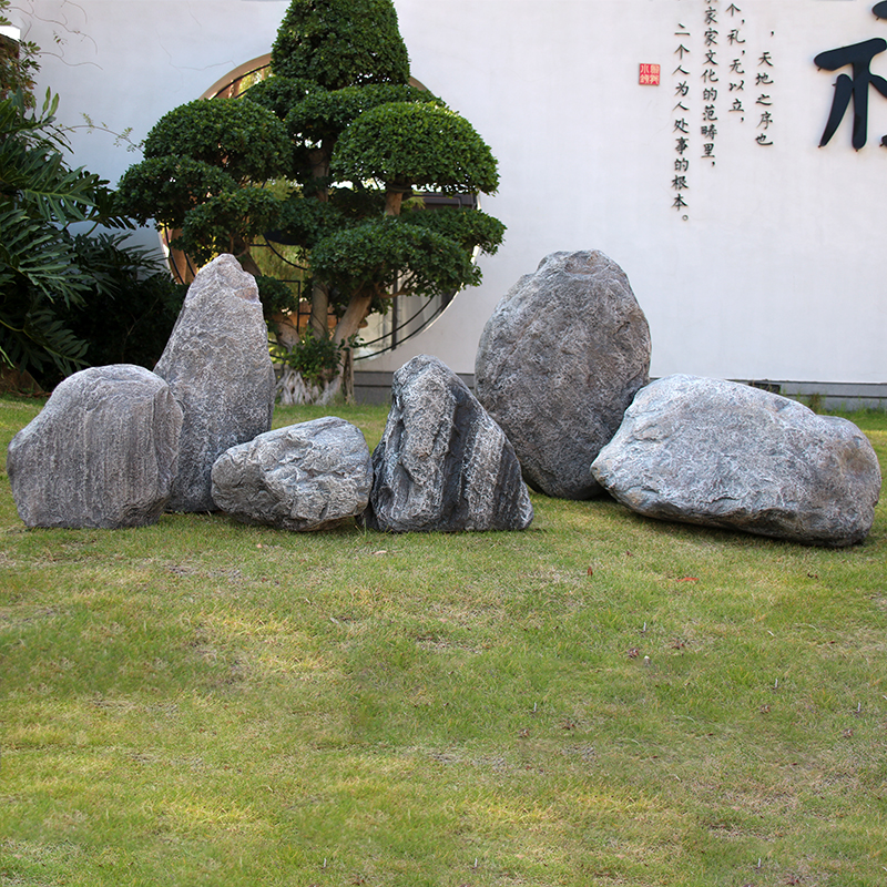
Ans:
{"type": "Polygon", "coordinates": [[[533,504],[26,530],[2,475],[0,885],[887,883],[885,506],[828,551],[533,504]]]}

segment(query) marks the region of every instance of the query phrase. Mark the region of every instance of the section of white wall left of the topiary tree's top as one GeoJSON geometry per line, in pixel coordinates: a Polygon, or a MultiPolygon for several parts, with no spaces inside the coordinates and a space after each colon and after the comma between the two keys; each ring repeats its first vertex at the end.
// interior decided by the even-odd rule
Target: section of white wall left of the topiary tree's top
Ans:
{"type": "MultiPolygon", "coordinates": [[[[39,82],[61,96],[59,118],[86,114],[141,141],[166,111],[200,95],[242,62],[271,50],[285,0],[17,0],[23,38],[44,51],[39,82]],[[57,37],[61,42],[57,43],[57,37]]],[[[75,159],[116,184],[141,154],[86,128],[75,159]]]]}

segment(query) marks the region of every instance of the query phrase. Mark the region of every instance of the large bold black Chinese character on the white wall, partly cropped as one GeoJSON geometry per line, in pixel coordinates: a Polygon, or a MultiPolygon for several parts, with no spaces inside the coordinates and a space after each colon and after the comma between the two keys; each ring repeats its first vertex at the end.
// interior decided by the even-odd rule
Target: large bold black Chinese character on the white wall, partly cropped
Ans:
{"type": "Polygon", "coordinates": [[[871,60],[880,52],[887,50],[887,40],[880,37],[854,43],[850,47],[820,52],[814,62],[826,71],[837,71],[846,65],[853,65],[853,78],[839,74],[835,81],[835,98],[832,101],[832,111],[819,140],[819,147],[828,144],[835,131],[844,120],[844,114],[853,99],[853,146],[858,151],[866,143],[868,130],[868,88],[873,85],[881,95],[887,98],[887,80],[869,71],[871,60]]]}

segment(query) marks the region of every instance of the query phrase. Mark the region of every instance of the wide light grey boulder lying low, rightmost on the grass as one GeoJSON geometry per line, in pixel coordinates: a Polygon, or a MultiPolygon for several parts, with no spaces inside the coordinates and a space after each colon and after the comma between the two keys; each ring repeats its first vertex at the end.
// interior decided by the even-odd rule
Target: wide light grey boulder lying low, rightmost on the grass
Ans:
{"type": "Polygon", "coordinates": [[[591,470],[651,518],[828,547],[865,539],[881,482],[875,451],[853,422],[693,376],[640,391],[591,470]]]}

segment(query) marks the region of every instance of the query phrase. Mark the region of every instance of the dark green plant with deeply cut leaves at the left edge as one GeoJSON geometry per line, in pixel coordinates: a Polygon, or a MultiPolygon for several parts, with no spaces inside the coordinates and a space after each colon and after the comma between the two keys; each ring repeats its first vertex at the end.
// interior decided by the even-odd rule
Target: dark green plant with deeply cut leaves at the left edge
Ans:
{"type": "Polygon", "coordinates": [[[111,210],[106,182],[65,164],[57,105],[49,93],[39,114],[21,92],[0,100],[0,358],[38,378],[85,360],[86,343],[63,312],[84,304],[93,277],[69,227],[128,224],[111,210]]]}

